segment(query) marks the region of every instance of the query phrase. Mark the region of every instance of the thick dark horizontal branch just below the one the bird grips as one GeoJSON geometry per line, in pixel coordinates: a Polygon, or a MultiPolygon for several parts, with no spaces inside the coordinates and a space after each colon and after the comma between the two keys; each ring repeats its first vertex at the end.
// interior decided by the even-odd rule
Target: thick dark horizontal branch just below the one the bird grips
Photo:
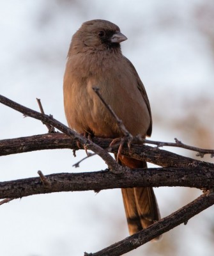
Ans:
{"type": "Polygon", "coordinates": [[[183,186],[210,189],[214,187],[214,169],[210,168],[148,168],[126,169],[115,175],[108,170],[85,173],[45,175],[51,186],[40,177],[0,182],[0,198],[19,198],[61,191],[100,191],[113,188],[183,186]]]}

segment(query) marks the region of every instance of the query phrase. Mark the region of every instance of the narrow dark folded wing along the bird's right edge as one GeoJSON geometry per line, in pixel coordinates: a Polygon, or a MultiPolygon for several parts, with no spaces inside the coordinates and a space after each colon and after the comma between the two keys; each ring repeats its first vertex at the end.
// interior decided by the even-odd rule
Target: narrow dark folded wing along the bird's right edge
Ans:
{"type": "Polygon", "coordinates": [[[124,56],[124,58],[125,58],[125,60],[127,61],[128,65],[130,65],[130,67],[132,68],[132,70],[134,72],[134,75],[135,75],[136,80],[137,80],[137,88],[141,92],[142,99],[144,100],[144,102],[146,103],[146,106],[148,108],[149,116],[150,116],[150,125],[149,125],[149,129],[148,129],[146,135],[151,136],[151,131],[152,131],[151,108],[150,108],[149,99],[148,99],[146,90],[145,90],[144,85],[143,85],[140,77],[138,76],[137,71],[135,70],[135,67],[132,64],[132,62],[130,60],[128,60],[125,56],[124,56]]]}

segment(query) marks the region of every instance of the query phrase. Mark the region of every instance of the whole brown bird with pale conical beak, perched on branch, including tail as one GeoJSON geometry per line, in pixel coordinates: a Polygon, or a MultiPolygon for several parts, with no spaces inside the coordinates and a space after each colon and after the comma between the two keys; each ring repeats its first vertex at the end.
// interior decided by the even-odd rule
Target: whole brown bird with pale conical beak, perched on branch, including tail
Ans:
{"type": "MultiPolygon", "coordinates": [[[[120,43],[127,38],[107,20],[84,22],[73,35],[64,76],[64,106],[68,125],[75,131],[103,138],[123,136],[116,120],[93,92],[100,94],[133,135],[151,136],[148,96],[120,43]]],[[[120,156],[129,168],[146,168],[146,162],[120,156]]],[[[153,188],[122,189],[128,230],[134,234],[159,220],[153,188]]],[[[158,238],[158,237],[157,237],[158,238]]]]}

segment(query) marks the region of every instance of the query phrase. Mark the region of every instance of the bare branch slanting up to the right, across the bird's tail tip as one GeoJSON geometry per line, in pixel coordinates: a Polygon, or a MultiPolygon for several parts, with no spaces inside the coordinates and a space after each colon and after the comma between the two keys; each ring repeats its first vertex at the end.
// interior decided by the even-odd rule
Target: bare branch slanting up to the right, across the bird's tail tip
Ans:
{"type": "Polygon", "coordinates": [[[164,234],[172,228],[180,225],[181,223],[187,223],[190,218],[204,211],[208,207],[214,204],[213,191],[207,191],[203,195],[199,196],[190,204],[185,205],[176,212],[173,212],[169,216],[157,221],[148,228],[134,234],[126,239],[114,243],[111,246],[104,248],[103,250],[95,253],[84,253],[84,256],[119,256],[124,253],[130,252],[135,248],[147,243],[151,239],[164,234]]]}

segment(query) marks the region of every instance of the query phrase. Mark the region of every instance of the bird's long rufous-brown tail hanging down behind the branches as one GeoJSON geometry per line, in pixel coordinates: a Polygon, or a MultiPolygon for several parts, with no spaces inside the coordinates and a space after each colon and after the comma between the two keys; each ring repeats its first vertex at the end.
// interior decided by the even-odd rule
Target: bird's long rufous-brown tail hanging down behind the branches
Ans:
{"type": "MultiPolygon", "coordinates": [[[[146,168],[144,161],[119,157],[119,162],[129,168],[146,168]]],[[[149,227],[160,219],[160,212],[153,188],[122,188],[128,230],[130,235],[149,227]]],[[[156,237],[155,240],[160,237],[156,237]]]]}

